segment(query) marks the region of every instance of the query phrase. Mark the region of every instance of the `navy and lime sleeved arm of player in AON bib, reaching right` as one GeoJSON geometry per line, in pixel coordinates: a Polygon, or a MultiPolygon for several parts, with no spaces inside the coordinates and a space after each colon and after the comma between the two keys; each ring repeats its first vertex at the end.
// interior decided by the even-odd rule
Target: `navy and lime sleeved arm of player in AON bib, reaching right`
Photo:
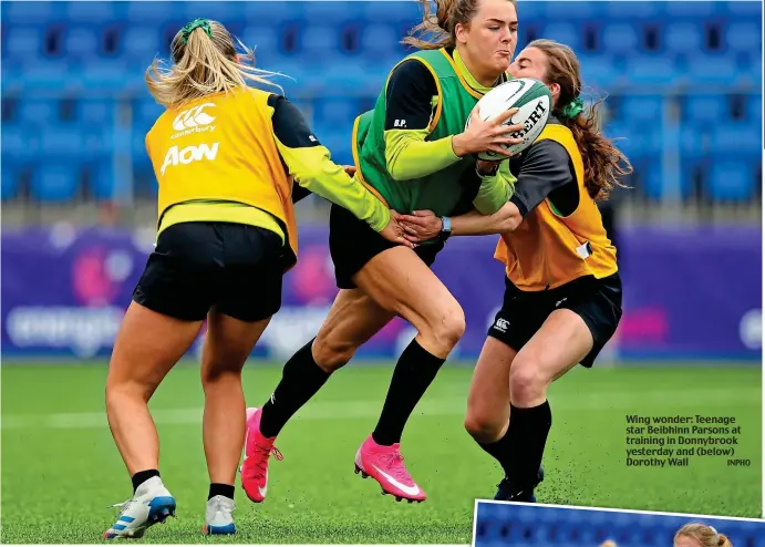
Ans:
{"type": "Polygon", "coordinates": [[[391,218],[387,207],[330,159],[329,149],[313,135],[298,107],[281,95],[270,95],[268,105],[273,111],[277,148],[294,182],[382,231],[391,218]]]}

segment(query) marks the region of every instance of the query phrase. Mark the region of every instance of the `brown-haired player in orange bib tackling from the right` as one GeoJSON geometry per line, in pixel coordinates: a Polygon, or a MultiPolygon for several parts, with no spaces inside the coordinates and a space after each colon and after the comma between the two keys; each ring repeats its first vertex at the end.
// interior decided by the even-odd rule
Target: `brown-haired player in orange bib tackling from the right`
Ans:
{"type": "MultiPolygon", "coordinates": [[[[568,47],[536,40],[509,72],[545,82],[554,115],[510,159],[510,202],[492,216],[453,218],[452,231],[502,234],[495,257],[506,265],[505,298],[476,364],[465,427],[505,469],[496,499],[533,502],[551,425],[547,388],[577,363],[592,367],[621,319],[616,248],[596,199],[631,166],[600,134],[597,105],[585,114],[568,47]]],[[[431,211],[399,218],[413,242],[442,226],[431,211]]]]}

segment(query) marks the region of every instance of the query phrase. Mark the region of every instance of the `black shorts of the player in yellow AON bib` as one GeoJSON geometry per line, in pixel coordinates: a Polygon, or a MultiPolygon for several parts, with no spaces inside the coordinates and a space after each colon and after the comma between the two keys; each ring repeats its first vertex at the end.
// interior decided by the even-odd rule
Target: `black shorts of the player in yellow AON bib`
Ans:
{"type": "Polygon", "coordinates": [[[182,223],[159,234],[133,300],[158,313],[200,321],[215,307],[259,321],[281,307],[281,238],[232,223],[182,223]]]}

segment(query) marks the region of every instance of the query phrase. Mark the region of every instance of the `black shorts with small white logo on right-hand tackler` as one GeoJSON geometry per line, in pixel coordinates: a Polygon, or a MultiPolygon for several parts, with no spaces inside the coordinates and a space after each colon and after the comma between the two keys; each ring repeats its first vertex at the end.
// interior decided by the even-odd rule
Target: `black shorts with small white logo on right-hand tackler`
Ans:
{"type": "Polygon", "coordinates": [[[520,351],[557,309],[573,311],[590,329],[592,350],[579,364],[591,368],[621,320],[619,272],[603,279],[588,276],[555,289],[534,292],[521,291],[505,277],[505,298],[488,329],[488,336],[520,351]]]}

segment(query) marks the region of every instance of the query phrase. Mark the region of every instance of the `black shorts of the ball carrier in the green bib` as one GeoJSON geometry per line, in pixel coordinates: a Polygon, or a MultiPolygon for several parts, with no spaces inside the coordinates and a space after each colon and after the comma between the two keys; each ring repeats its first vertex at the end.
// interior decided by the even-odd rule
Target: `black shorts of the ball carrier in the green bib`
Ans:
{"type": "MultiPolygon", "coordinates": [[[[351,279],[366,262],[382,251],[399,244],[389,241],[365,221],[339,205],[330,210],[330,255],[334,264],[334,278],[340,289],[355,289],[351,279]]],[[[442,241],[421,245],[414,249],[423,262],[433,266],[435,257],[444,248],[442,241]]]]}

